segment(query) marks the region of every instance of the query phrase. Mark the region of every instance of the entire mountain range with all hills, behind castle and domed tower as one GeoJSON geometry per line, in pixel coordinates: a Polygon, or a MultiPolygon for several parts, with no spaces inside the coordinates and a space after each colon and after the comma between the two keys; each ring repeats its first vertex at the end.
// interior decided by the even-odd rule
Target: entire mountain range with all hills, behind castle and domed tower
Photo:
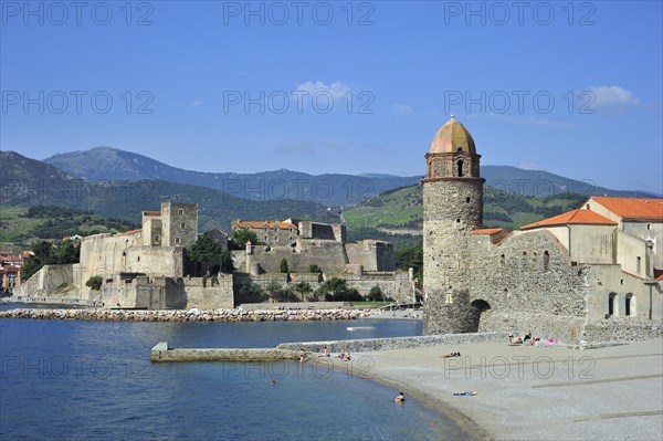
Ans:
{"type": "MultiPolygon", "coordinates": [[[[345,216],[351,228],[383,233],[418,230],[421,223],[419,176],[314,176],[285,169],[210,174],[108,147],[44,161],[0,151],[0,204],[6,206],[66,207],[139,222],[144,210],[158,210],[164,201],[190,201],[199,204],[201,231],[228,230],[238,219],[338,222],[345,216]]],[[[554,216],[589,196],[652,197],[507,166],[484,166],[482,176],[488,187],[486,223],[504,228],[554,216]]]]}

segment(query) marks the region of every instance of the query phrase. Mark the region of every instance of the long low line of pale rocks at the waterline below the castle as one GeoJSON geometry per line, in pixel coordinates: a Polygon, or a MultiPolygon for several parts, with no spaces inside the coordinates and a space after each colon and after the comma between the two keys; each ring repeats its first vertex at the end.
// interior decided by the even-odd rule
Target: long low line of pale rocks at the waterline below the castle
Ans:
{"type": "Polygon", "coordinates": [[[368,311],[348,309],[9,309],[0,318],[130,321],[130,322],[280,322],[347,321],[370,315],[368,311]]]}

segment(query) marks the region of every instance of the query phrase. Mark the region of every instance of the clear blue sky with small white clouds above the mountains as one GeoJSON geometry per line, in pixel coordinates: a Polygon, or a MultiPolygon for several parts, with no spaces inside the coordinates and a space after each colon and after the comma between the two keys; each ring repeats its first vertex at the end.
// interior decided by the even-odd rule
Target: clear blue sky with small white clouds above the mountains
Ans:
{"type": "Polygon", "coordinates": [[[1,2],[0,148],[200,171],[482,165],[663,192],[662,2],[1,2]]]}

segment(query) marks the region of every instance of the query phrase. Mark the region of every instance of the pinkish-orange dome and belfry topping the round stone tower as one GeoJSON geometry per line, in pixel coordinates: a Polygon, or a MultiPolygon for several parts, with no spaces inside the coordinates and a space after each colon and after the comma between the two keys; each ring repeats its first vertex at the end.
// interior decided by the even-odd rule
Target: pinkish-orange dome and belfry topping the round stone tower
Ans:
{"type": "Polygon", "coordinates": [[[453,115],[438,132],[425,154],[427,171],[423,181],[448,179],[483,179],[480,176],[474,139],[453,115]]]}

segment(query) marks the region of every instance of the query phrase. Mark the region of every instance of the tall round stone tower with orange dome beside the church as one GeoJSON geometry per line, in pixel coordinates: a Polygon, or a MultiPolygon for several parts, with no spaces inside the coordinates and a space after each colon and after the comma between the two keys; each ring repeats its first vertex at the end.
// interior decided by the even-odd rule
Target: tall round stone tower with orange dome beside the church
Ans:
{"type": "Polygon", "coordinates": [[[453,115],[425,155],[423,187],[424,334],[475,332],[467,233],[483,222],[483,183],[474,139],[453,115]]]}

